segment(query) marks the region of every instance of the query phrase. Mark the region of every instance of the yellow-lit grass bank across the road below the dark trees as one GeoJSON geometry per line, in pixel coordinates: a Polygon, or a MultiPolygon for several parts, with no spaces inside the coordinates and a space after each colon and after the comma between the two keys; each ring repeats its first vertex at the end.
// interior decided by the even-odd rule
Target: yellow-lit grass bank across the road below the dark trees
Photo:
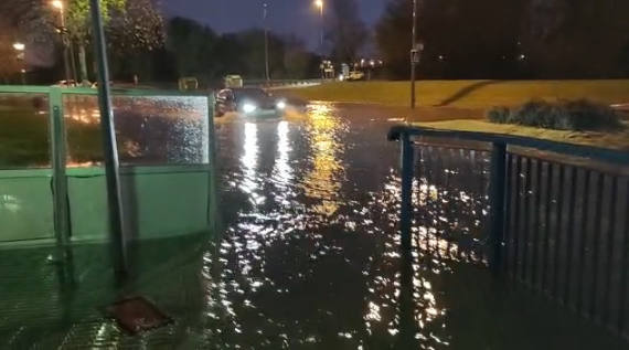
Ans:
{"type": "MultiPolygon", "coordinates": [[[[408,82],[329,83],[280,91],[305,100],[407,106],[408,82]]],[[[425,107],[487,109],[518,106],[531,99],[582,99],[617,104],[629,102],[629,79],[608,81],[422,81],[417,103],[425,107]]]]}

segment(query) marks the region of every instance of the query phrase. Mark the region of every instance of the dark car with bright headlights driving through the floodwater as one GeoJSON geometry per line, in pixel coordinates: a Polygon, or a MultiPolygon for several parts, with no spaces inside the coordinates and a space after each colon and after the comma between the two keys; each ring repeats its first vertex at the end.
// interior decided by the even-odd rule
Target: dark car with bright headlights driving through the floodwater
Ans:
{"type": "Polygon", "coordinates": [[[238,113],[253,117],[278,117],[286,108],[286,100],[276,98],[262,88],[224,88],[216,94],[215,114],[238,113]]]}

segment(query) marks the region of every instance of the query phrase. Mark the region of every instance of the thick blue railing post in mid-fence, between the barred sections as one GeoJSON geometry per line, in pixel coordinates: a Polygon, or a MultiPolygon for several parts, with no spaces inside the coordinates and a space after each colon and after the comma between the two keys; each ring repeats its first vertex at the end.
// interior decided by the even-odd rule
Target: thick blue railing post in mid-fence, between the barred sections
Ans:
{"type": "Polygon", "coordinates": [[[505,194],[509,189],[507,183],[507,145],[493,142],[491,150],[491,180],[489,185],[490,211],[490,246],[489,266],[494,275],[498,275],[502,265],[502,240],[504,236],[504,222],[507,211],[505,194]]]}

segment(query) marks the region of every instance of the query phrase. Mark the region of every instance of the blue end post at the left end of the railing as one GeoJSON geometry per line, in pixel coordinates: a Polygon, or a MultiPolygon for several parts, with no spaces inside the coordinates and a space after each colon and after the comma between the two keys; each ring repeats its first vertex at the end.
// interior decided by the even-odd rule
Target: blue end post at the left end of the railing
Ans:
{"type": "Polygon", "coordinates": [[[413,213],[413,163],[414,149],[408,132],[402,132],[402,210],[399,216],[403,251],[411,251],[411,216],[413,213]]]}

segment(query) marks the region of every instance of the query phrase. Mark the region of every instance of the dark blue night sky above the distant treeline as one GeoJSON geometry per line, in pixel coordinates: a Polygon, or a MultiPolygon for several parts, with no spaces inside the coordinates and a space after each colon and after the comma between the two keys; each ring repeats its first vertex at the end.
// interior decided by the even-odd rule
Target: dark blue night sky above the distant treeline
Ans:
{"type": "MultiPolygon", "coordinates": [[[[373,26],[377,21],[386,1],[358,0],[361,18],[367,25],[373,26]]],[[[220,33],[262,28],[262,0],[161,0],[166,15],[186,17],[207,24],[220,33]]],[[[280,34],[294,33],[311,49],[317,46],[320,19],[313,0],[267,0],[267,3],[271,31],[280,34]]]]}

